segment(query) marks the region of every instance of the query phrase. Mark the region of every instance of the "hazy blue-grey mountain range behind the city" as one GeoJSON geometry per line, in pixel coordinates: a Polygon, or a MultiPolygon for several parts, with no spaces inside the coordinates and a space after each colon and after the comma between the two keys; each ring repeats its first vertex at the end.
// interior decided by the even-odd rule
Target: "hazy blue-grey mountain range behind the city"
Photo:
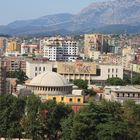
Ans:
{"type": "Polygon", "coordinates": [[[0,26],[0,34],[9,35],[67,35],[90,32],[140,33],[140,0],[94,2],[75,15],[47,15],[0,26]]]}

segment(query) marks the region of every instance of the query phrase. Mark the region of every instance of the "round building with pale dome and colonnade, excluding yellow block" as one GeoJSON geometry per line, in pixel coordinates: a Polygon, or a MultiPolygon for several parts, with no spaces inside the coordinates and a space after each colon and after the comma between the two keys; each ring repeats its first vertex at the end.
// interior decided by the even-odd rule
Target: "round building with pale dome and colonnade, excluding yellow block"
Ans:
{"type": "Polygon", "coordinates": [[[72,94],[72,85],[62,75],[55,72],[45,72],[36,76],[26,84],[26,87],[42,100],[47,100],[49,95],[72,94]]]}

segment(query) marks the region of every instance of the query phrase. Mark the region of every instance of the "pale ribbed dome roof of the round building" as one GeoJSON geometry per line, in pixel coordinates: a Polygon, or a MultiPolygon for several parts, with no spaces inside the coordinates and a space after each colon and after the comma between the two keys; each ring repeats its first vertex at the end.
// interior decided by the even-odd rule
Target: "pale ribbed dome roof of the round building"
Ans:
{"type": "Polygon", "coordinates": [[[31,80],[28,84],[31,86],[45,86],[45,87],[64,87],[70,86],[68,81],[60,74],[55,72],[42,73],[31,80]]]}

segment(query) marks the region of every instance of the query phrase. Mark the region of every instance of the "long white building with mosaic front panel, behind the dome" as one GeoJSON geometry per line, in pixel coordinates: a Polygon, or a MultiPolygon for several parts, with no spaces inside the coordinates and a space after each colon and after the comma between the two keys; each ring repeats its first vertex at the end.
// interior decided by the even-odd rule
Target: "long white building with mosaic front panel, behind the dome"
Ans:
{"type": "Polygon", "coordinates": [[[89,84],[101,84],[111,77],[123,79],[123,67],[119,64],[103,64],[94,62],[49,62],[27,60],[26,75],[32,79],[38,74],[55,71],[63,75],[69,82],[75,79],[87,80],[89,84]]]}

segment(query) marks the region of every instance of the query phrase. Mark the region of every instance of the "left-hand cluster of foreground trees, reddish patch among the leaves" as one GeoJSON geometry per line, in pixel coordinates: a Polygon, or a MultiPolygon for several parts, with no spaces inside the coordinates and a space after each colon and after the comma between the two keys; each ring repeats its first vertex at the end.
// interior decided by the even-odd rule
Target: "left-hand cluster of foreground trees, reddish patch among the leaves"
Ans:
{"type": "Polygon", "coordinates": [[[0,137],[57,140],[61,120],[71,113],[72,109],[63,103],[53,100],[42,103],[34,95],[27,99],[0,96],[0,137]]]}

